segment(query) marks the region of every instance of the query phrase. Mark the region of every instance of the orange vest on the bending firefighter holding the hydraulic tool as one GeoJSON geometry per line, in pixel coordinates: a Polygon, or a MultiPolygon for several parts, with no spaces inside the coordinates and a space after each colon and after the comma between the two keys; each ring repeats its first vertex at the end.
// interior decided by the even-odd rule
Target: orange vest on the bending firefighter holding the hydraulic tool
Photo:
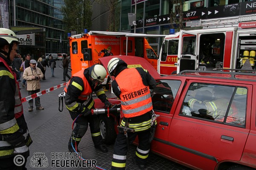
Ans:
{"type": "MultiPolygon", "coordinates": [[[[92,89],[90,88],[90,84],[87,81],[87,79],[84,77],[84,70],[81,70],[74,74],[72,77],[80,77],[83,79],[84,82],[84,91],[80,94],[78,97],[79,100],[87,100],[88,96],[93,92],[92,89]]],[[[71,78],[72,78],[71,77],[71,78]]],[[[71,80],[71,79],[70,79],[71,80]]],[[[70,81],[68,81],[66,87],[64,88],[64,91],[67,93],[67,87],[70,85],[70,81]]]]}

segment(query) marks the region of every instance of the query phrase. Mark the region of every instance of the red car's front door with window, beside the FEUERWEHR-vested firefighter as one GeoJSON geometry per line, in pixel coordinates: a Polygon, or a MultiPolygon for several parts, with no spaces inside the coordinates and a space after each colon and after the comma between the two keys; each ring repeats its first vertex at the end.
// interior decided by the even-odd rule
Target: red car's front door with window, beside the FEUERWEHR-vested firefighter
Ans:
{"type": "Polygon", "coordinates": [[[154,113],[157,117],[157,127],[151,150],[168,156],[170,150],[168,145],[168,134],[172,122],[173,111],[183,86],[181,80],[161,79],[157,80],[157,86],[151,90],[151,99],[154,113]]]}

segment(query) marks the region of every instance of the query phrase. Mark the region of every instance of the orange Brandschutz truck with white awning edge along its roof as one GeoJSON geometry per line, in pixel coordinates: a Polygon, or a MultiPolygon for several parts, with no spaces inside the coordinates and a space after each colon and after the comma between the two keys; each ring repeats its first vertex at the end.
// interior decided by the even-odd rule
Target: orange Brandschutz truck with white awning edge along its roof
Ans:
{"type": "Polygon", "coordinates": [[[77,35],[71,36],[68,33],[71,74],[98,63],[101,57],[110,55],[143,57],[157,69],[157,54],[145,37],[165,36],[107,31],[87,32],[87,29],[84,30],[84,33],[77,35]]]}

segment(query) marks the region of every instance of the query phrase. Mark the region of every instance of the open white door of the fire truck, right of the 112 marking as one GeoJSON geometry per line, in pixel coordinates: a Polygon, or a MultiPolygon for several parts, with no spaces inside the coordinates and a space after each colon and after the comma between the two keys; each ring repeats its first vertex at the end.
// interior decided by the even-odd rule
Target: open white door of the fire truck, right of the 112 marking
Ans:
{"type": "Polygon", "coordinates": [[[198,34],[184,30],[180,31],[177,73],[198,68],[197,42],[198,34]]]}

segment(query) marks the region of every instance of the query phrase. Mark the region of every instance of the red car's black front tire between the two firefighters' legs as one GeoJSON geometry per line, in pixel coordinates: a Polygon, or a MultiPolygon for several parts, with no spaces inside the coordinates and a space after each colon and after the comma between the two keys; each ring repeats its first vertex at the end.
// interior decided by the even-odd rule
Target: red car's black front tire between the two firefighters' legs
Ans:
{"type": "Polygon", "coordinates": [[[116,131],[114,128],[114,120],[106,115],[99,116],[99,128],[102,136],[102,142],[105,144],[113,144],[116,140],[116,131]]]}

